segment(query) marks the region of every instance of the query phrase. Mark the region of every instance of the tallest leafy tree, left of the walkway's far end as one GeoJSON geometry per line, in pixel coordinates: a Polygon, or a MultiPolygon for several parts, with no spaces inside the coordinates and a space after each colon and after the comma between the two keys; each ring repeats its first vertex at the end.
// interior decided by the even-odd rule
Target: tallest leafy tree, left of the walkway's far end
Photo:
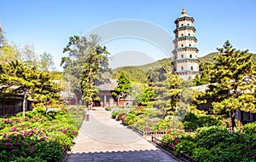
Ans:
{"type": "Polygon", "coordinates": [[[69,38],[63,53],[68,53],[67,57],[62,57],[61,66],[64,68],[64,75],[72,83],[73,92],[80,95],[86,103],[91,106],[96,99],[96,78],[101,78],[102,72],[108,70],[108,51],[106,47],[99,45],[100,38],[90,35],[73,36],[69,38]]]}

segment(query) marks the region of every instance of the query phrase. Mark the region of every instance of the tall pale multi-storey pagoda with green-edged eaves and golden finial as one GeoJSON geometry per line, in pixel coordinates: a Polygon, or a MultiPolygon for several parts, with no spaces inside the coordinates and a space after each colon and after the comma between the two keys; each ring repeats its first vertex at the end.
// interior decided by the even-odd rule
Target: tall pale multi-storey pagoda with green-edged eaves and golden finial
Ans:
{"type": "Polygon", "coordinates": [[[175,20],[173,72],[183,80],[194,79],[199,74],[199,61],[197,59],[198,49],[196,48],[197,39],[195,38],[194,19],[186,14],[183,9],[182,15],[175,20]]]}

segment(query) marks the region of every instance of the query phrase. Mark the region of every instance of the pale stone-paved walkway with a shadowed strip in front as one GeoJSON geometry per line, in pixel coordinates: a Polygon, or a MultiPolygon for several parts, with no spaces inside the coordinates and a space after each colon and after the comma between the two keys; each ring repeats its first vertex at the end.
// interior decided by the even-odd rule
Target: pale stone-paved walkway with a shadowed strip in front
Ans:
{"type": "Polygon", "coordinates": [[[151,161],[174,162],[168,154],[156,148],[136,132],[110,118],[102,108],[90,111],[90,120],[84,121],[67,162],[82,161],[151,161]]]}

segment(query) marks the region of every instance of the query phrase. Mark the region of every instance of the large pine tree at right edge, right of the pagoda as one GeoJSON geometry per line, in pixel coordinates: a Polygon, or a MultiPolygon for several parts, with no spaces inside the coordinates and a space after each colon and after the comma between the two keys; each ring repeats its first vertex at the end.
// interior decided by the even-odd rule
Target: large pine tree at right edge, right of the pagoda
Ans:
{"type": "Polygon", "coordinates": [[[218,98],[213,102],[215,113],[229,112],[232,129],[236,127],[235,111],[255,113],[256,68],[252,55],[247,50],[240,51],[232,47],[229,41],[218,49],[214,65],[210,71],[212,85],[209,94],[218,98]]]}

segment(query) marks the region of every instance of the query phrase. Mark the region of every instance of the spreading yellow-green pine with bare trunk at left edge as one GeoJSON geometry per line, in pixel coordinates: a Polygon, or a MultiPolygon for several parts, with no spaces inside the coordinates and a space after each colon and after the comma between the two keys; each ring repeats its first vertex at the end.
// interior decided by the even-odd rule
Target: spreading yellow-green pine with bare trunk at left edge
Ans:
{"type": "Polygon", "coordinates": [[[25,103],[28,95],[35,101],[59,99],[60,88],[50,81],[49,73],[38,71],[37,67],[26,67],[19,61],[0,65],[1,93],[24,96],[22,112],[25,116],[25,103]]]}

